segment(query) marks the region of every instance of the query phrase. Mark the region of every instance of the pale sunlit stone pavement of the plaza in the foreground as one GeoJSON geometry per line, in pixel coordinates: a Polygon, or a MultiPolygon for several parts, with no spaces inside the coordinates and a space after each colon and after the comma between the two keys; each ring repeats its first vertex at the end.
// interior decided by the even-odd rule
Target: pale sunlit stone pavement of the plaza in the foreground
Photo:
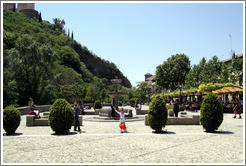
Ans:
{"type": "Polygon", "coordinates": [[[152,133],[144,121],[127,122],[128,133],[120,133],[118,122],[86,120],[91,116],[83,117],[82,133],[72,127],[55,135],[49,126],[26,127],[23,115],[16,134],[2,136],[2,164],[245,164],[244,115],[224,114],[216,133],[201,125],[167,125],[165,134],[152,133]]]}

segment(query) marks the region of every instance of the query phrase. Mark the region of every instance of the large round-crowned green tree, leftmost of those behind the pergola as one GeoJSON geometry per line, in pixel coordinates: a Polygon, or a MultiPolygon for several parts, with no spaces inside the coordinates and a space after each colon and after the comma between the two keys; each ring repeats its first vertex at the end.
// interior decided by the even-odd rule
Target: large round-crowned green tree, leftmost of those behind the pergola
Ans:
{"type": "Polygon", "coordinates": [[[176,90],[185,84],[185,76],[190,71],[190,60],[185,54],[172,55],[156,69],[156,83],[163,89],[176,90]]]}

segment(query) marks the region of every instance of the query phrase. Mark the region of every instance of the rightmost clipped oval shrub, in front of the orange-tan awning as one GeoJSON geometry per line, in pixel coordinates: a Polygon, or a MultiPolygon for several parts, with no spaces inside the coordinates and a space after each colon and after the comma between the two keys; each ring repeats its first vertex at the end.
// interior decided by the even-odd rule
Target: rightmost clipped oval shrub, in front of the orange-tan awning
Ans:
{"type": "Polygon", "coordinates": [[[200,122],[207,132],[214,132],[223,121],[221,100],[213,93],[208,94],[201,105],[200,122]]]}

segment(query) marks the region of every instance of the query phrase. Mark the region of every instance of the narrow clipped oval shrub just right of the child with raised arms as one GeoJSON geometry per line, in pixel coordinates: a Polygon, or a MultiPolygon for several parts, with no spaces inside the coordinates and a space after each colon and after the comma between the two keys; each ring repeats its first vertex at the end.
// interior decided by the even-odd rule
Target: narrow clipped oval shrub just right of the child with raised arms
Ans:
{"type": "Polygon", "coordinates": [[[149,105],[148,122],[150,127],[154,129],[156,133],[161,133],[162,128],[166,126],[167,108],[165,100],[161,95],[156,95],[149,105]]]}

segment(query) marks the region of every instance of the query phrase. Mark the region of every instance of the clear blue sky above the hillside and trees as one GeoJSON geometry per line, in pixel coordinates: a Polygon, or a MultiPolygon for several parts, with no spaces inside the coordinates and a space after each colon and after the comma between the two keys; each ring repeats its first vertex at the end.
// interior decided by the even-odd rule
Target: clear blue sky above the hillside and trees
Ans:
{"type": "Polygon", "coordinates": [[[171,55],[191,65],[243,52],[243,3],[35,3],[43,20],[65,29],[97,56],[113,62],[133,86],[171,55]],[[232,36],[231,42],[230,37],[232,36]]]}

